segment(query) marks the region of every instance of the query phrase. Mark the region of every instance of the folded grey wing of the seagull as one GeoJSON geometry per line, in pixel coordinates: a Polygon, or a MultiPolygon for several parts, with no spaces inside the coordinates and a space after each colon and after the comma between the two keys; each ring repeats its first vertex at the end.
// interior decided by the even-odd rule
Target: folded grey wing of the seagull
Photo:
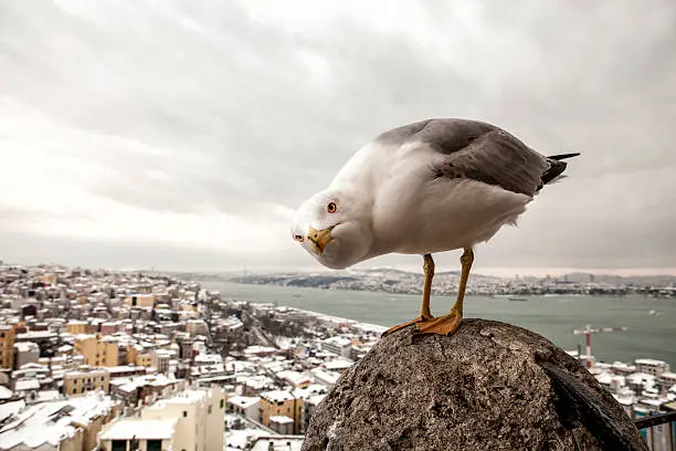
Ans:
{"type": "Polygon", "coordinates": [[[566,162],[550,160],[494,125],[465,119],[429,119],[380,135],[390,145],[419,141],[444,155],[432,178],[464,178],[534,196],[560,175],[566,162]]]}

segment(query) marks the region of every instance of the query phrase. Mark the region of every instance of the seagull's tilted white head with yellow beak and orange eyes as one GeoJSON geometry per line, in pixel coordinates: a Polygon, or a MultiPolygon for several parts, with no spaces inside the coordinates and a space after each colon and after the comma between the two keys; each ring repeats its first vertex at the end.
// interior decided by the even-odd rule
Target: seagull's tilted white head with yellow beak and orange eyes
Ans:
{"type": "Polygon", "coordinates": [[[363,197],[329,189],[298,208],[292,238],[323,265],[342,270],[368,258],[373,243],[370,218],[363,197]]]}

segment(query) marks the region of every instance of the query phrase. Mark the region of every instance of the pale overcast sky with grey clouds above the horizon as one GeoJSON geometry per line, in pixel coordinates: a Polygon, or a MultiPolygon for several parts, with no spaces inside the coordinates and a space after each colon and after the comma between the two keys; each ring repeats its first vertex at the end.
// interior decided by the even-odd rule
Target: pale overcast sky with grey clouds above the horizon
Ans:
{"type": "Polygon", "coordinates": [[[0,259],[319,270],[296,207],[465,117],[582,153],[477,271],[676,273],[674,49],[674,0],[0,0],[0,259]]]}

